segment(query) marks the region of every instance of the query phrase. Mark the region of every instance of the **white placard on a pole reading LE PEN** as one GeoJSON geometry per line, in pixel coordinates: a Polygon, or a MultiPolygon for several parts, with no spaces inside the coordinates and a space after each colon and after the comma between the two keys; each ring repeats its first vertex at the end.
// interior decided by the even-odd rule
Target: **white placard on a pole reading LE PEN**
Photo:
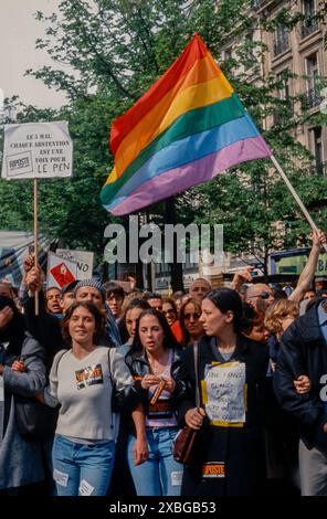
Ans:
{"type": "Polygon", "coordinates": [[[66,120],[4,126],[4,179],[71,177],[72,171],[73,142],[66,120]]]}

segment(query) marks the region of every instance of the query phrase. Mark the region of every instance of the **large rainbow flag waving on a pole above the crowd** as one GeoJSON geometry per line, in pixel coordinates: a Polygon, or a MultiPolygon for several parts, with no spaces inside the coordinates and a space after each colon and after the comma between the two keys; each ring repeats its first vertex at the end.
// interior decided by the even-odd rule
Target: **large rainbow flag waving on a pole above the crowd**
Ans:
{"type": "Polygon", "coordinates": [[[231,166],[272,155],[198,34],[113,123],[110,149],[115,167],[101,200],[115,215],[211,180],[231,166]]]}

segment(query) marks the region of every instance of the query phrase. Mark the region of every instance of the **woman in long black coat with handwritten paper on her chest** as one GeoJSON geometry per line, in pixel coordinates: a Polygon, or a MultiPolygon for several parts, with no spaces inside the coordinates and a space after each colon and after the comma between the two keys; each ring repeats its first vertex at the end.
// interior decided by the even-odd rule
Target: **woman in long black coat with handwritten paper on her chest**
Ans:
{"type": "Polygon", "coordinates": [[[230,288],[207,294],[200,320],[207,337],[199,345],[199,411],[193,348],[182,357],[191,392],[179,407],[180,417],[199,430],[182,495],[255,495],[265,474],[257,392],[265,381],[267,347],[242,336],[242,301],[230,288]]]}

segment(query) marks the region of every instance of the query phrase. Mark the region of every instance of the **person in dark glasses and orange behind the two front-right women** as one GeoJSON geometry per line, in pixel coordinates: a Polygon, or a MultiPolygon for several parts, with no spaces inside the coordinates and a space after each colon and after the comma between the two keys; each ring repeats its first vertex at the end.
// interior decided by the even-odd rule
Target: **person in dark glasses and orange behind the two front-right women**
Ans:
{"type": "Polygon", "coordinates": [[[199,340],[203,335],[203,326],[200,321],[201,300],[196,297],[188,299],[180,309],[179,322],[182,330],[180,343],[186,347],[199,340]]]}

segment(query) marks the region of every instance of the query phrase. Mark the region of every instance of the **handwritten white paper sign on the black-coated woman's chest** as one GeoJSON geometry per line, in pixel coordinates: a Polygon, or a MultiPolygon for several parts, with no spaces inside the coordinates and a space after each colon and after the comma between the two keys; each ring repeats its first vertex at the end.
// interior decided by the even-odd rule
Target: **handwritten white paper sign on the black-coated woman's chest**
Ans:
{"type": "Polygon", "coordinates": [[[213,364],[204,378],[205,412],[212,422],[245,422],[245,363],[213,364]]]}

